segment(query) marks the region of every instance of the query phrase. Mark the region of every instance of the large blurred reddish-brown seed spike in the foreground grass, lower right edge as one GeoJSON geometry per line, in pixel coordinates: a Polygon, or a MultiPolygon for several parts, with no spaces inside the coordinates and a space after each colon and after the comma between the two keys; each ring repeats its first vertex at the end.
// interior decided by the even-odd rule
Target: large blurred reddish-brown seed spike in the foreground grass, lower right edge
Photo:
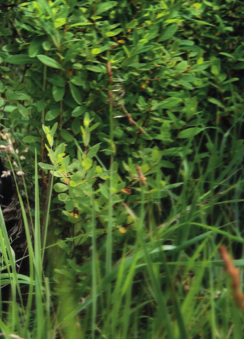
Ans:
{"type": "Polygon", "coordinates": [[[233,295],[239,308],[244,308],[244,294],[241,291],[240,271],[233,265],[228,251],[224,245],[219,248],[220,255],[225,262],[225,269],[232,279],[233,295]]]}

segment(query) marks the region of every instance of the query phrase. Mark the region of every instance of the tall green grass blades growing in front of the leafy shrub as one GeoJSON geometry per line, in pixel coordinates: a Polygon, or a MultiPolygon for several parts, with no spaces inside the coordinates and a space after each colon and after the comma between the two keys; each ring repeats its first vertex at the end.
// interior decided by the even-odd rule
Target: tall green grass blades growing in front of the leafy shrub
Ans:
{"type": "MultiPolygon", "coordinates": [[[[220,152],[220,165],[214,166],[214,152],[208,157],[205,171],[199,166],[198,153],[191,162],[182,154],[181,193],[176,196],[174,188],[171,190],[174,205],[163,223],[154,220],[155,203],[153,195],[147,197],[148,187],[138,187],[141,199],[139,215],[134,214],[134,238],[128,237],[128,233],[119,235],[124,237],[119,245],[119,258],[113,257],[117,252],[113,242],[118,231],[113,228],[116,216],[112,196],[104,253],[105,247],[96,234],[95,195],[90,192],[90,259],[84,270],[81,266],[76,278],[66,271],[63,272],[66,279],[60,282],[53,281],[52,274],[47,276],[43,267],[36,160],[34,248],[19,195],[28,243],[29,278],[23,279],[15,270],[15,257],[0,214],[2,258],[9,277],[1,273],[1,284],[10,284],[12,291],[8,313],[2,317],[0,326],[5,338],[12,334],[55,338],[58,333],[61,338],[242,338],[243,313],[233,300],[216,242],[217,238],[218,243],[244,243],[240,230],[234,227],[235,220],[227,213],[233,207],[237,215],[240,213],[237,203],[243,201],[240,199],[243,181],[231,180],[241,159],[237,152],[222,167],[220,152]],[[201,174],[199,179],[192,178],[196,169],[201,174]],[[235,199],[230,199],[231,196],[235,199]],[[75,284],[79,278],[85,298],[77,300],[75,284]],[[22,283],[29,284],[24,300],[20,292],[22,283]]],[[[55,253],[57,246],[54,243],[48,247],[54,248],[55,253]]],[[[48,257],[53,261],[49,264],[56,265],[58,270],[63,269],[67,259],[69,254],[65,250],[61,257],[48,257]]],[[[236,260],[239,267],[243,263],[243,257],[236,260]]]]}

